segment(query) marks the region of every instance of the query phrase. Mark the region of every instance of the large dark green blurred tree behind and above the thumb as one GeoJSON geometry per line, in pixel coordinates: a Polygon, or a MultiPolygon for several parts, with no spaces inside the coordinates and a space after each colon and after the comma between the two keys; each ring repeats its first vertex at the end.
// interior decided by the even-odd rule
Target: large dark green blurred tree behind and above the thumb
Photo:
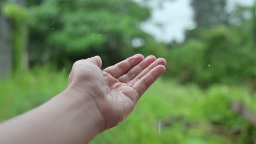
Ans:
{"type": "Polygon", "coordinates": [[[130,0],[43,0],[30,14],[34,62],[100,55],[113,64],[155,42],[139,28],[149,18],[149,9],[130,0]],[[134,39],[141,39],[136,49],[134,39]]]}

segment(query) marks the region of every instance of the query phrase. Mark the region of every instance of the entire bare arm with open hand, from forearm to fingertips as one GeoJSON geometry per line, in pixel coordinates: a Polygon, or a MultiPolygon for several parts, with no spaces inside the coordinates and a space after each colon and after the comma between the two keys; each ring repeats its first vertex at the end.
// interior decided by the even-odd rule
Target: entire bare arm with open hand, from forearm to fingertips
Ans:
{"type": "Polygon", "coordinates": [[[132,112],[166,61],[137,54],[103,71],[101,65],[99,56],[75,62],[61,94],[0,124],[0,143],[89,143],[132,112]]]}

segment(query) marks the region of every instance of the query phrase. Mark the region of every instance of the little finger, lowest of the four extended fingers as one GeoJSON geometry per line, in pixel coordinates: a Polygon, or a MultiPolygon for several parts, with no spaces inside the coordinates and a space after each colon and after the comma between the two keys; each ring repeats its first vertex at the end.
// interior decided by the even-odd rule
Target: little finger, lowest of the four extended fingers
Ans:
{"type": "Polygon", "coordinates": [[[139,96],[144,92],[165,72],[164,65],[158,65],[132,86],[139,96]]]}

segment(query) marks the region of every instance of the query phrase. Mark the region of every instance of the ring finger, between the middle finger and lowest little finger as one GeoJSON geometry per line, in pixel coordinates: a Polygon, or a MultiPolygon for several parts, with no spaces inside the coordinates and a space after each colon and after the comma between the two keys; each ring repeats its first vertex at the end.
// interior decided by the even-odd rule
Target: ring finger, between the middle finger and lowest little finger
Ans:
{"type": "Polygon", "coordinates": [[[163,58],[157,59],[155,62],[149,65],[149,67],[145,68],[138,76],[134,77],[130,82],[128,82],[129,85],[134,85],[137,80],[144,77],[147,73],[149,73],[153,68],[157,67],[158,65],[166,65],[166,61],[163,58]]]}

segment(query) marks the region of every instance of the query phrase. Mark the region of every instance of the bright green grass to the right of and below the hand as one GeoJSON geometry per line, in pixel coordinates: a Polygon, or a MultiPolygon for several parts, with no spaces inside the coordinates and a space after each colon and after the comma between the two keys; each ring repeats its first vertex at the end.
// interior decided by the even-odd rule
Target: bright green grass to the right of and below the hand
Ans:
{"type": "Polygon", "coordinates": [[[230,102],[249,96],[244,88],[213,86],[202,91],[158,80],[121,125],[92,144],[243,144],[253,138],[247,132],[250,125],[231,111],[230,102]],[[158,122],[163,123],[160,134],[158,122]],[[238,138],[236,131],[241,133],[238,138]]]}

